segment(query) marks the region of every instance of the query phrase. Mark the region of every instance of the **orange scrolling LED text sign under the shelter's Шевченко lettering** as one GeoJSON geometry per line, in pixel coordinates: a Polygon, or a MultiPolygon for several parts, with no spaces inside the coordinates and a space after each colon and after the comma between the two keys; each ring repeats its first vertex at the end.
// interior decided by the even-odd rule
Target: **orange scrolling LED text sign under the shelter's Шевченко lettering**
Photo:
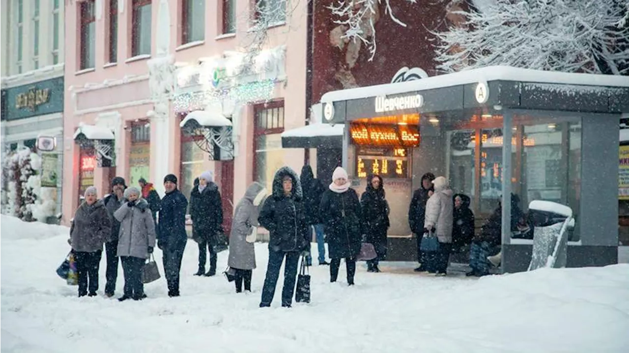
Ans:
{"type": "Polygon", "coordinates": [[[420,144],[420,131],[412,125],[351,124],[352,142],[367,146],[406,146],[420,144]]]}

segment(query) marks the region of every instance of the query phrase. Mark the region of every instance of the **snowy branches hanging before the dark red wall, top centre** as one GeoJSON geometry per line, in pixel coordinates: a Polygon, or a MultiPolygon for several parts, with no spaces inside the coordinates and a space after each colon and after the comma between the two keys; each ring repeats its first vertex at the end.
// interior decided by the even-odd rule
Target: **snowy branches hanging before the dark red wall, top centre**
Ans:
{"type": "MultiPolygon", "coordinates": [[[[380,8],[384,7],[387,14],[395,23],[406,27],[393,13],[392,0],[335,0],[328,6],[338,19],[334,23],[339,24],[344,31],[341,38],[348,41],[360,41],[369,49],[369,61],[376,55],[376,22],[380,17],[380,8]]],[[[401,0],[398,0],[401,1],[401,0]]],[[[415,4],[417,0],[404,0],[415,4]]]]}

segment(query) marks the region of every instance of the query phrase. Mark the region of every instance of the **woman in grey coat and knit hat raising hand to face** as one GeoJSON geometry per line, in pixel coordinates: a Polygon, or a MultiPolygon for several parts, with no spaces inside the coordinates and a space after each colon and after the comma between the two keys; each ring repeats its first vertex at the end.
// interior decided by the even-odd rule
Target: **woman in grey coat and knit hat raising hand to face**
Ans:
{"type": "Polygon", "coordinates": [[[142,284],[142,266],[155,247],[155,223],[148,202],[140,198],[140,190],[125,190],[127,202],[122,204],[114,217],[120,222],[117,256],[122,260],[125,274],[125,293],[118,300],[146,298],[142,284]]]}

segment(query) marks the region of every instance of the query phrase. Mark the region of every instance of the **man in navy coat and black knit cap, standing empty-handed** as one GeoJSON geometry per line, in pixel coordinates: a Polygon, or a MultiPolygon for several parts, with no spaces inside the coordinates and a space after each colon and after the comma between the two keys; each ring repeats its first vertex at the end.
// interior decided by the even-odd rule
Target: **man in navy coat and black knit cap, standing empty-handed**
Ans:
{"type": "Polygon", "coordinates": [[[181,259],[188,239],[186,234],[188,201],[177,189],[177,176],[166,175],[164,188],[166,194],[162,198],[159,212],[157,247],[162,249],[163,253],[162,261],[168,283],[168,295],[179,296],[179,271],[181,271],[181,259]]]}

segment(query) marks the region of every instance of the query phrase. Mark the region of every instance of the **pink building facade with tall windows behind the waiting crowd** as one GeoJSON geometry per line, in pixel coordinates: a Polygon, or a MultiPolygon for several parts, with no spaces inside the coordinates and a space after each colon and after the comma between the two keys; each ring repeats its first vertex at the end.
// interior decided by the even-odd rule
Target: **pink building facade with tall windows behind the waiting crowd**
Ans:
{"type": "Polygon", "coordinates": [[[303,149],[281,149],[280,134],[306,120],[306,3],[288,14],[285,4],[68,3],[62,222],[86,187],[102,197],[113,176],[164,195],[174,173],[188,196],[211,170],[229,226],[249,183],[270,188],[279,166],[299,170],[303,149]]]}

